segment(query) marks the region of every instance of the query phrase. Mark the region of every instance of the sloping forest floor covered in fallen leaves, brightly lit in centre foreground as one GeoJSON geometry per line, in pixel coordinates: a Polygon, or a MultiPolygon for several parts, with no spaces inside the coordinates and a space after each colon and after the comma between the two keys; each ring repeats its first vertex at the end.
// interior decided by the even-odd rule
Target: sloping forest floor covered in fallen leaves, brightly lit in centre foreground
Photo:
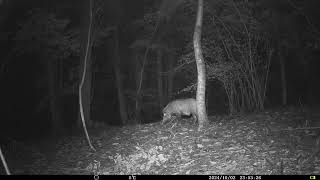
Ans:
{"type": "Polygon", "coordinates": [[[83,133],[1,148],[12,174],[320,174],[319,108],[209,120],[90,129],[96,152],[83,133]]]}

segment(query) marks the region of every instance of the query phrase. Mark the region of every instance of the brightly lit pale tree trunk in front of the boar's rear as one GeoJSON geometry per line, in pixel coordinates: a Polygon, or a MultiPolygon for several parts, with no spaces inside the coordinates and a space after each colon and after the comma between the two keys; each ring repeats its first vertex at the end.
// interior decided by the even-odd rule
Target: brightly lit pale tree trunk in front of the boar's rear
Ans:
{"type": "Polygon", "coordinates": [[[197,83],[197,110],[198,110],[198,122],[199,128],[208,122],[207,111],[206,111],[206,69],[205,62],[202,55],[201,49],[201,28],[202,28],[202,15],[203,15],[203,0],[198,1],[198,12],[197,20],[193,35],[193,46],[196,58],[197,70],[198,70],[198,83],[197,83]]]}

